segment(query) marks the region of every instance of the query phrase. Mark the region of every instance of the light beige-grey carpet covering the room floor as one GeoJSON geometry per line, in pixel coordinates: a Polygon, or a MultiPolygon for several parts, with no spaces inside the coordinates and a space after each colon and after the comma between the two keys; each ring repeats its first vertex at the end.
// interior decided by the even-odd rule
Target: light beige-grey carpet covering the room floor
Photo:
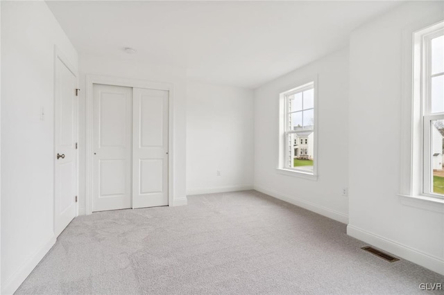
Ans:
{"type": "MultiPolygon", "coordinates": [[[[250,190],[77,217],[17,294],[430,294],[444,277],[250,190]]],[[[441,292],[436,292],[441,293],[441,292]]]]}

